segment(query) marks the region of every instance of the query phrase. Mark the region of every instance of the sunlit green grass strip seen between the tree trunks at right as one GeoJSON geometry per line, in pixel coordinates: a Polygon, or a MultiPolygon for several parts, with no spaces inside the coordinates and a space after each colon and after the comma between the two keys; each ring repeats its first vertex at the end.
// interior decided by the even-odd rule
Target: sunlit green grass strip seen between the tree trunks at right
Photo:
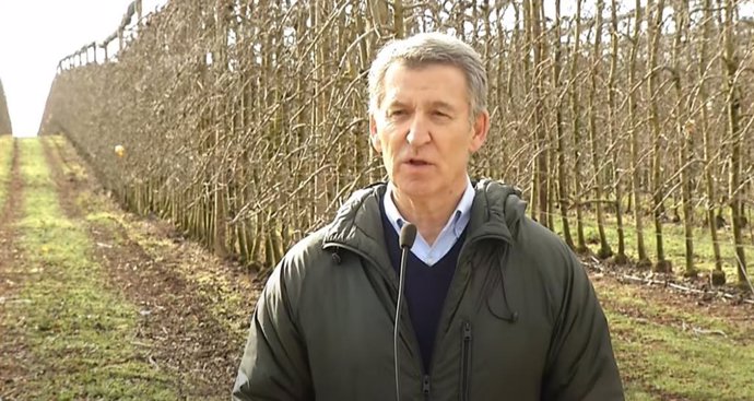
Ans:
{"type": "MultiPolygon", "coordinates": [[[[599,233],[597,229],[596,215],[586,214],[584,222],[584,235],[587,238],[589,248],[597,253],[599,250],[599,233]],[[590,240],[591,239],[591,240],[590,240]]],[[[647,250],[649,259],[657,262],[657,240],[655,236],[655,223],[651,216],[647,216],[644,221],[644,245],[647,250]]],[[[569,220],[572,236],[576,241],[576,219],[569,220]]],[[[617,252],[617,224],[614,215],[608,215],[605,220],[605,236],[608,244],[610,244],[613,252],[617,252]]],[[[563,235],[563,226],[559,217],[555,219],[555,232],[563,235]]],[[[747,233],[749,228],[744,229],[745,251],[749,255],[754,253],[754,240],[747,233]]],[[[694,227],[694,264],[700,272],[708,272],[715,268],[715,253],[712,250],[712,240],[709,236],[709,229],[704,226],[694,227]]],[[[624,216],[624,235],[626,256],[632,260],[638,260],[638,252],[636,246],[636,229],[634,219],[624,216]]],[[[662,225],[663,250],[665,259],[673,264],[673,271],[682,274],[686,266],[686,244],[683,223],[665,223],[662,225]]],[[[722,256],[723,271],[728,282],[735,282],[735,253],[733,247],[733,235],[730,229],[718,231],[718,243],[720,244],[720,255],[722,256]]]]}

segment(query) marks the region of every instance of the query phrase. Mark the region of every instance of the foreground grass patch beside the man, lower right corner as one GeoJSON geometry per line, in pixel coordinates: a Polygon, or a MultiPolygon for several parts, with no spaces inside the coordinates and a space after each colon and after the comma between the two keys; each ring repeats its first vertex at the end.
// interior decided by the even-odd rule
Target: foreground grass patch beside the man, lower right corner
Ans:
{"type": "Polygon", "coordinates": [[[655,393],[694,401],[754,400],[754,321],[712,316],[693,300],[663,303],[633,285],[597,281],[594,287],[627,400],[659,400],[655,393]]]}

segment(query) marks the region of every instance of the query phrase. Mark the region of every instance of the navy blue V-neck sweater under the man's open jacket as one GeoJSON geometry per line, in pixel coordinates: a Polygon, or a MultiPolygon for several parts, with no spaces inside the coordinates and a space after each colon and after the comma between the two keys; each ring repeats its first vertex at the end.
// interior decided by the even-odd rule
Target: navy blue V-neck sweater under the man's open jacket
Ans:
{"type": "MultiPolygon", "coordinates": [[[[398,245],[398,233],[396,233],[388,220],[381,200],[379,204],[382,215],[385,243],[388,247],[392,267],[396,269],[396,275],[398,275],[401,268],[401,248],[398,245]]],[[[431,267],[416,258],[413,252],[409,252],[409,260],[405,264],[403,296],[409,307],[411,326],[413,326],[419,347],[422,352],[425,373],[429,373],[437,325],[439,325],[445,297],[448,294],[450,282],[456,272],[456,264],[458,264],[458,256],[464,237],[466,229],[450,251],[431,267]]]]}

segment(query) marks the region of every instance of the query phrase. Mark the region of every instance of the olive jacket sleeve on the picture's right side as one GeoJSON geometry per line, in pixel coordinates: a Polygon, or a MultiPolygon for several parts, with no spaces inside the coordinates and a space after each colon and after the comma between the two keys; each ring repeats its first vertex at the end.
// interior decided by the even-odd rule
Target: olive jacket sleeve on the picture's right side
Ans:
{"type": "Polygon", "coordinates": [[[568,266],[542,400],[622,401],[623,385],[604,312],[581,263],[564,248],[568,266]]]}

